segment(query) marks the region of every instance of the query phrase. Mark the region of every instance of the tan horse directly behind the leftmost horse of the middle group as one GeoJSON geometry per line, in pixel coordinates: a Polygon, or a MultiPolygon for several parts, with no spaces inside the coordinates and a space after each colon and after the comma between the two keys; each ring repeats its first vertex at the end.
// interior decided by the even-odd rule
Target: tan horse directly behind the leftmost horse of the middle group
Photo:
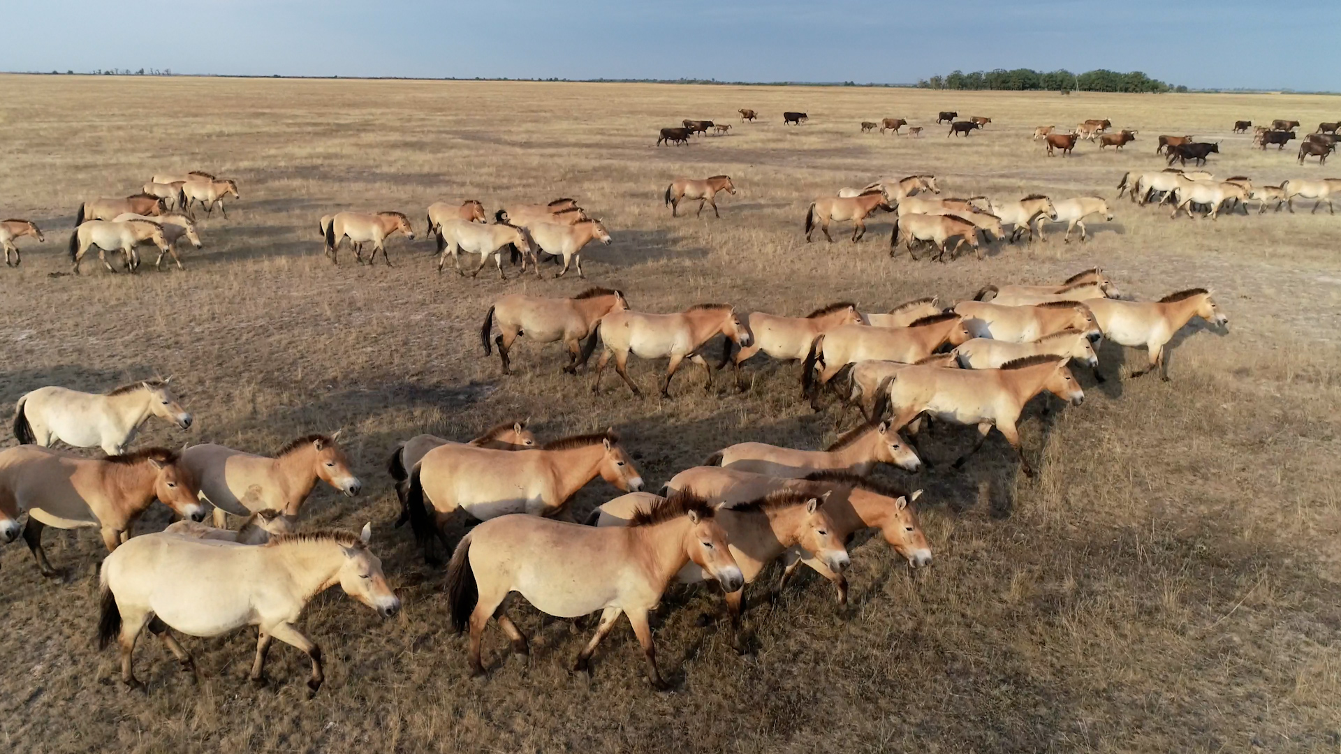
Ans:
{"type": "Polygon", "coordinates": [[[605,350],[601,353],[601,361],[595,365],[593,393],[601,390],[601,373],[605,372],[610,357],[614,357],[614,370],[629,385],[633,394],[642,394],[625,370],[630,353],[637,354],[638,358],[670,357],[666,376],[661,381],[662,397],[670,397],[670,377],[675,376],[680,362],[685,358],[703,366],[707,374],[704,389],[711,390],[712,366],[701,353],[708,341],[717,334],[724,335],[723,356],[730,353],[731,343],[746,347],[754,342],[750,330],[736,315],[735,307],[728,303],[699,303],[676,314],[611,311],[601,319],[599,330],[605,350]]]}

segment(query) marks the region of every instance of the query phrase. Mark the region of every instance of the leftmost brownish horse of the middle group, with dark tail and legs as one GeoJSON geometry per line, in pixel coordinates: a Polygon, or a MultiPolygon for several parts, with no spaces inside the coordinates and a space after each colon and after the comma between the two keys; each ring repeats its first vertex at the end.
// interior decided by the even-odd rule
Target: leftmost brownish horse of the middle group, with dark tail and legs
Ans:
{"type": "Polygon", "coordinates": [[[569,349],[569,362],[563,372],[577,373],[577,368],[586,364],[591,352],[595,350],[597,325],[601,318],[611,311],[625,311],[629,309],[624,291],[611,288],[587,288],[573,298],[546,298],[528,297],[526,294],[508,294],[489,306],[484,314],[484,325],[480,327],[480,345],[484,346],[484,356],[489,356],[489,334],[493,323],[498,322],[499,334],[492,342],[499,346],[499,360],[503,361],[503,374],[510,374],[511,360],[508,353],[512,343],[523,333],[540,343],[563,341],[569,349]],[[586,345],[582,341],[586,339],[586,345]]]}

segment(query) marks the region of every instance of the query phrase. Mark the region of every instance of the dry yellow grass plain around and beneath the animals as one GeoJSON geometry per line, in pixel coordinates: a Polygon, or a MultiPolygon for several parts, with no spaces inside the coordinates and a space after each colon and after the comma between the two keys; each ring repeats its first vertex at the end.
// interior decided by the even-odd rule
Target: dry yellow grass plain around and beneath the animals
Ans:
{"type": "MultiPolygon", "coordinates": [[[[43,581],[25,547],[9,545],[0,551],[5,750],[1341,747],[1341,219],[1305,211],[1173,223],[1122,200],[1084,247],[1061,244],[1053,228],[1045,246],[945,266],[890,260],[884,216],[858,246],[807,246],[801,235],[811,197],[886,174],[931,172],[960,196],[1112,199],[1124,170],[1163,166],[1151,154],[1160,133],[1224,138],[1210,166],[1218,176],[1328,174],[1227,131],[1236,118],[1334,119],[1332,98],[74,76],[0,78],[0,212],[34,219],[48,236],[44,247],[25,239],[23,268],[0,274],[0,401],[46,384],[98,390],[174,373],[196,428],[184,436],[152,424],[139,444],[267,451],[343,428],[365,494],[319,490],[307,523],[371,519],[374,549],[405,597],[388,623],[338,590],[315,600],[303,629],[326,649],[329,680],[314,702],[302,700],[304,659],[287,647],[271,653],[278,688],[251,688],[248,632],[185,640],[198,687],[145,641],[145,698],[113,680],[111,652],[93,648],[97,537],[48,531],[52,561],[70,569],[63,582],[43,581]],[[738,123],[738,107],[759,110],[762,122],[738,123]],[[994,122],[947,140],[931,123],[947,107],[994,122]],[[784,109],[807,110],[810,122],[784,129],[784,109]],[[858,133],[860,121],[886,115],[927,131],[858,133]],[[1071,160],[1049,160],[1029,140],[1037,125],[1090,117],[1140,129],[1139,141],[1102,154],[1082,144],[1071,160]],[[654,149],[657,129],[681,118],[735,127],[654,149]],[[208,247],[186,255],[185,272],[47,276],[68,268],[64,237],[79,201],[186,169],[236,178],[243,200],[228,220],[201,223],[208,247]],[[723,219],[672,220],[666,182],[713,173],[740,189],[723,199],[723,219]],[[614,425],[660,484],[727,443],[814,447],[835,436],[831,415],[798,400],[794,365],[750,364],[754,386],[740,396],[725,381],[704,394],[691,369],[669,401],[633,398],[614,382],[593,397],[590,376],[559,374],[557,347],[523,345],[516,374],[500,378],[479,350],[489,301],[573,294],[582,282],[437,275],[425,240],[393,240],[390,270],[333,268],[320,256],[316,219],[335,209],[401,209],[422,233],[434,200],[477,197],[493,212],[554,196],[603,217],[616,243],[590,254],[589,283],[622,288],[642,310],[730,301],[805,314],[854,299],[878,311],[1102,264],[1143,298],[1214,287],[1232,333],[1180,338],[1172,384],[1085,378],[1084,407],[1051,420],[1035,407],[1023,433],[1042,457],[1037,479],[1016,476],[999,439],[963,472],[916,478],[936,563],[911,574],[878,541],[858,539],[852,608],[835,612],[815,578],[772,605],[759,600],[748,614],[752,659],[697,625],[719,604],[697,589],[668,596],[657,618],[675,694],[648,690],[626,625],[597,653],[594,680],[570,676],[583,637],[530,608],[514,614],[535,637],[531,667],[504,663],[491,631],[496,667],[468,683],[441,574],[389,526],[398,504],[382,464],[397,440],[422,431],[464,439],[524,416],[544,439],[614,425]]],[[[1106,346],[1101,358],[1113,373],[1122,353],[1106,346]]],[[[634,362],[632,374],[650,389],[661,368],[634,362]]],[[[947,459],[968,441],[937,428],[931,452],[947,459]]],[[[581,515],[613,494],[593,484],[575,507],[581,515]]],[[[143,530],[165,521],[156,510],[143,530]]],[[[211,574],[198,578],[211,589],[211,574]]]]}

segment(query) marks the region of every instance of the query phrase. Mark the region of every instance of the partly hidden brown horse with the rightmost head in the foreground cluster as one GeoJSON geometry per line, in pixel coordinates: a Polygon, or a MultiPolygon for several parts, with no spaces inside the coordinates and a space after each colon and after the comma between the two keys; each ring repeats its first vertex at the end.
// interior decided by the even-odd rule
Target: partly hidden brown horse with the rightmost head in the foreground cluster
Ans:
{"type": "MultiPolygon", "coordinates": [[[[908,504],[921,495],[921,490],[908,494],[882,479],[877,480],[842,471],[817,471],[805,479],[778,479],[715,466],[699,466],[681,471],[666,483],[666,487],[712,500],[723,500],[725,506],[779,491],[811,496],[829,495],[823,503],[825,513],[841,539],[849,541],[853,534],[864,529],[878,529],[880,535],[908,561],[909,568],[931,565],[931,546],[927,543],[927,535],[917,525],[917,514],[908,504]]],[[[839,605],[848,604],[848,580],[841,573],[834,573],[822,561],[798,547],[787,550],[786,562],[787,568],[778,581],[778,590],[786,586],[797,566],[805,562],[837,586],[839,605]]]]}

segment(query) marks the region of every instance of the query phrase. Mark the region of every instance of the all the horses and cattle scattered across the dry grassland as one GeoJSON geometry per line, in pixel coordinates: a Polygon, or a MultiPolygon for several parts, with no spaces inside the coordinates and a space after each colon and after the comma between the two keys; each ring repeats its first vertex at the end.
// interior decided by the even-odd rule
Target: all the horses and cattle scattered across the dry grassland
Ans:
{"type": "MultiPolygon", "coordinates": [[[[960,121],[953,111],[939,115],[937,122],[951,123],[951,134],[967,136],[991,122],[960,121]]],[[[740,117],[752,122],[758,114],[743,109],[740,117]]],[[[783,118],[793,125],[806,122],[805,113],[783,118]]],[[[862,130],[898,133],[905,125],[890,118],[865,122],[862,130]]],[[[1238,126],[1246,130],[1251,123],[1238,126]]],[[[1336,123],[1324,126],[1332,126],[1329,133],[1334,134],[1336,123]]],[[[668,129],[675,134],[664,130],[662,138],[688,140],[709,129],[727,130],[711,121],[684,121],[681,129],[668,129]]],[[[1086,121],[1069,134],[1039,127],[1035,138],[1046,140],[1049,152],[1070,152],[1081,138],[1097,140],[1102,149],[1121,148],[1136,136],[1134,130],[1109,131],[1106,119],[1086,121]]],[[[1278,131],[1283,129],[1263,133],[1278,131]]],[[[1171,160],[1198,160],[1200,150],[1185,149],[1196,144],[1191,137],[1161,137],[1160,148],[1171,160]]],[[[715,197],[723,191],[736,193],[728,176],[677,178],[662,196],[672,215],[679,215],[684,200],[697,200],[699,213],[709,205],[720,217],[715,197]]],[[[980,233],[987,243],[1012,243],[1021,236],[1033,240],[1035,235],[1042,240],[1047,220],[1067,223],[1067,240],[1078,227],[1084,240],[1086,217],[1112,220],[1105,200],[1094,196],[949,199],[940,196],[941,191],[932,174],[842,188],[810,203],[806,239],[819,229],[831,241],[831,223],[853,221],[852,240],[860,241],[864,220],[881,211],[896,217],[890,255],[904,246],[917,259],[915,248],[929,244],[929,256],[945,262],[963,244],[982,258],[980,233]],[[1008,235],[1006,225],[1011,227],[1008,235]],[[956,241],[952,247],[951,240],[956,241]]],[[[1246,177],[1216,181],[1204,172],[1172,168],[1129,172],[1118,184],[1120,197],[1126,193],[1140,205],[1156,200],[1172,204],[1173,216],[1192,216],[1195,208],[1204,208],[1215,217],[1239,205],[1247,212],[1251,200],[1263,203],[1259,212],[1271,200],[1277,209],[1285,204],[1293,211],[1295,197],[1316,199],[1316,211],[1322,203],[1332,207],[1333,192],[1341,192],[1341,181],[1254,186],[1246,177]]],[[[237,197],[235,181],[193,172],[156,176],[145,191],[125,200],[84,203],[70,241],[75,270],[91,246],[98,246],[101,258],[102,251],[119,251],[123,268],[130,271],[138,266],[135,247],[141,241],[169,254],[181,236],[198,246],[193,203],[207,212],[215,207],[223,211],[224,196],[237,197]],[[180,231],[169,233],[169,225],[180,231]]],[[[493,256],[504,275],[502,258],[508,251],[523,272],[534,264],[539,275],[544,252],[563,259],[563,272],[575,262],[583,276],[582,248],[593,239],[610,243],[602,223],[573,199],[510,204],[492,217],[491,224],[476,200],[429,207],[428,233],[437,240],[439,270],[448,256],[457,259],[460,251],[468,251],[481,256],[475,274],[493,256]]],[[[401,212],[338,212],[320,217],[318,227],[333,263],[345,240],[358,262],[363,262],[363,244],[371,244],[367,263],[381,251],[389,264],[386,237],[396,232],[414,237],[409,217],[401,212]]],[[[42,240],[35,225],[20,220],[0,225],[0,232],[7,233],[7,262],[13,237],[42,240]]],[[[456,267],[464,274],[459,259],[456,267]]],[[[955,470],[963,468],[995,428],[1015,451],[1021,470],[1033,475],[1018,432],[1030,401],[1050,401],[1050,393],[1080,405],[1084,389],[1073,366],[1084,366],[1093,380],[1104,381],[1096,350],[1101,339],[1147,350],[1148,366],[1130,377],[1157,370],[1168,380],[1169,343],[1196,318],[1212,327],[1228,323],[1203,287],[1177,290],[1159,301],[1132,301],[1121,298],[1116,283],[1097,267],[1051,284],[986,284],[972,299],[953,303],[928,295],[885,311],[861,311],[839,301],[805,317],[743,313],[730,303],[645,313],[632,309],[624,291],[606,287],[590,287],[571,298],[508,294],[489,306],[480,329],[484,357],[498,347],[504,374],[512,372],[511,349],[526,337],[562,342],[567,354],[563,372],[574,376],[599,347],[593,392],[601,390],[602,376],[613,364],[638,396],[642,390],[628,370],[630,354],[666,358],[660,394],[669,397],[672,378],[685,361],[703,368],[708,390],[713,372],[730,362],[736,388],[746,390],[752,382],[743,368],[762,353],[801,364],[798,394],[815,411],[837,404],[839,423],[852,411],[860,413],[860,421],[825,449],[763,441],[721,448],[703,466],[672,476],[657,494],[644,491],[646,482],[633,463],[638,455],[630,453],[613,429],[547,443],[523,421],[506,421],[469,440],[420,435],[390,448],[388,472],[401,506],[396,526],[410,523],[430,563],[441,562],[440,553],[451,553],[444,589],[453,624],[469,632],[467,656],[473,675],[485,674],[481,639],[491,620],[516,653],[530,652],[506,609],[507,596],[519,592],[551,616],[581,620],[601,613],[591,641],[577,657],[578,671],[589,669],[599,641],[626,614],[644,649],[648,678],[662,687],[648,616],[672,582],[716,581],[725,594],[732,643],[739,648],[744,588],[775,559],[784,566],[775,589],[805,563],[834,584],[839,602],[848,592],[843,572],[850,555],[845,543],[857,530],[878,530],[912,568],[929,565],[931,547],[912,507],[921,490],[874,479],[880,466],[907,474],[932,467],[917,436],[929,421],[937,421],[976,431],[972,448],[953,463],[955,470]],[[720,357],[713,365],[709,354],[717,347],[720,357]],[[571,498],[597,476],[625,495],[577,523],[571,498]],[[449,531],[457,521],[481,523],[453,541],[449,531]]],[[[1112,378],[1109,372],[1106,378],[1112,378]]],[[[341,451],[339,432],[296,437],[274,455],[217,444],[182,452],[129,449],[137,432],[156,416],[184,429],[193,425],[172,392],[170,378],[143,380],[105,394],[46,385],[20,397],[13,415],[19,445],[0,451],[0,541],[21,535],[38,569],[59,576],[42,546],[44,527],[102,533],[110,554],[101,569],[97,635],[102,645],[118,643],[121,678],[127,684],[138,684],[131,657],[145,629],[182,669],[194,674],[194,661],[174,632],[219,636],[255,625],[259,637],[251,679],[264,683],[266,655],[278,639],[308,655],[308,687],[315,694],[325,679],[322,652],[296,628],[303,605],[339,584],[384,617],[401,608],[381,561],[369,550],[370,526],[361,534],[299,530],[303,503],[318,483],[345,495],[362,490],[341,451]],[[56,443],[101,448],[106,455],[52,449],[56,443]],[[135,521],[154,500],[181,521],[161,533],[131,537],[135,521]],[[20,525],[24,514],[27,521],[20,525]],[[227,527],[228,514],[241,519],[237,530],[227,527]],[[213,526],[204,523],[207,515],[213,517],[213,526]],[[205,572],[227,588],[194,588],[193,580],[205,572]]]]}

